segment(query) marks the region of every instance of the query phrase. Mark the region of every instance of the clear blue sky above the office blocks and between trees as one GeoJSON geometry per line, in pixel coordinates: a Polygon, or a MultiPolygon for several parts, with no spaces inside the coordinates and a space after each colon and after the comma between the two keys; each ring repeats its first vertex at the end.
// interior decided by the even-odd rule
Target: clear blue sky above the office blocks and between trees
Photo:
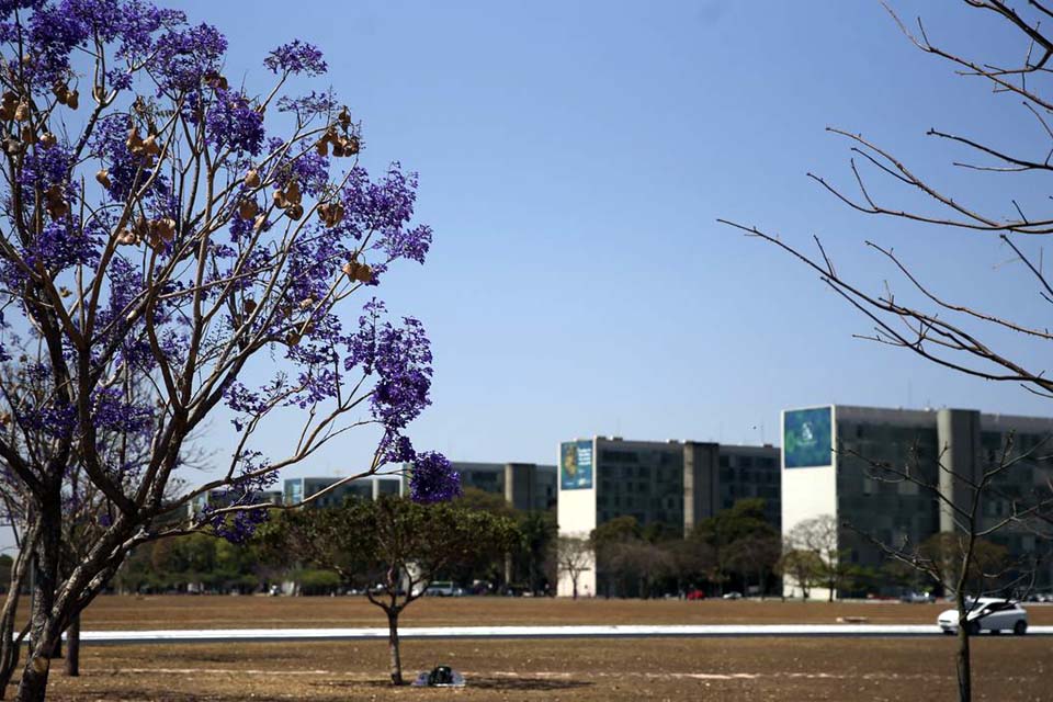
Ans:
{"type": "MultiPolygon", "coordinates": [[[[1041,320],[995,238],[867,217],[805,177],[850,184],[833,125],[995,214],[1011,213],[1010,197],[1029,212],[1048,202],[1033,180],[950,166],[962,152],[929,127],[1031,154],[1048,145],[1018,100],[915,49],[876,1],[172,5],[227,33],[234,80],[262,80],[262,57],[293,37],[318,45],[326,80],[363,122],[363,162],[420,173],[432,253],[381,291],[434,346],[419,449],[554,463],[561,440],[593,433],[778,442],[780,409],[824,403],[1050,412],[1017,386],[853,339],[868,324],[814,274],[716,223],[801,246],[818,235],[878,292],[893,271],[863,246],[873,239],[948,297],[1041,320]]],[[[977,11],[894,7],[921,12],[951,46],[1022,50],[977,11]]],[[[225,427],[204,442],[220,450],[225,427]]],[[[261,448],[276,454],[290,438],[261,448]]],[[[348,439],[286,474],[351,469],[369,449],[348,439]]]]}

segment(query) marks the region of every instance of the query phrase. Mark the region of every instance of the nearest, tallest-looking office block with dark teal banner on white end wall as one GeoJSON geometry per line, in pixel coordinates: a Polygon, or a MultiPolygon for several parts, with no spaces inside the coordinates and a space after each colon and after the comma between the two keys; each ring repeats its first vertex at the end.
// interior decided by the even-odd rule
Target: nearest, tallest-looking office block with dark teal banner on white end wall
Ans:
{"type": "MultiPolygon", "coordinates": [[[[1053,419],[982,414],[971,409],[905,410],[831,405],[782,412],[782,532],[786,536],[807,519],[831,516],[838,524],[836,551],[852,565],[879,569],[884,544],[921,544],[938,532],[954,532],[953,513],[929,489],[908,480],[883,477],[882,464],[907,466],[922,482],[958,505],[971,496],[965,480],[975,480],[1001,458],[1012,438],[1015,454],[1034,453],[997,478],[997,495],[981,505],[982,528],[1008,516],[1014,497],[1028,499],[1049,490],[1053,463],[1034,452],[1053,449],[1053,419]],[[964,480],[963,480],[964,478],[964,480]]],[[[989,536],[1011,556],[1035,550],[1030,529],[1006,529],[989,536]]],[[[1044,587],[1053,571],[1040,573],[1044,587]]],[[[784,591],[801,595],[786,579],[784,591]]],[[[826,598],[825,589],[811,596],[826,598]]]]}

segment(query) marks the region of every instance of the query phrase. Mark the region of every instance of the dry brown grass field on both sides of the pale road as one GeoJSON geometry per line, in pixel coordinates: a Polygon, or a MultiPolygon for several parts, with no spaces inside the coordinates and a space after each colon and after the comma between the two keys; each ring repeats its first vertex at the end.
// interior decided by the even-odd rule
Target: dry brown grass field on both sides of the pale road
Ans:
{"type": "MultiPolygon", "coordinates": [[[[406,625],[598,623],[930,623],[946,605],[813,602],[676,602],[429,599],[406,625]]],[[[1031,609],[1033,624],[1053,608],[1031,609]]],[[[237,626],[380,626],[361,598],[102,598],[86,630],[237,626]]],[[[410,641],[407,677],[438,664],[468,687],[427,690],[387,684],[384,642],[86,646],[82,676],[56,665],[53,699],[258,702],[270,700],[634,700],[879,701],[950,700],[953,639],[648,638],[410,641]]],[[[1053,642],[983,636],[975,641],[977,700],[1050,700],[1053,642]]],[[[56,661],[58,664],[58,661],[56,661]]]]}

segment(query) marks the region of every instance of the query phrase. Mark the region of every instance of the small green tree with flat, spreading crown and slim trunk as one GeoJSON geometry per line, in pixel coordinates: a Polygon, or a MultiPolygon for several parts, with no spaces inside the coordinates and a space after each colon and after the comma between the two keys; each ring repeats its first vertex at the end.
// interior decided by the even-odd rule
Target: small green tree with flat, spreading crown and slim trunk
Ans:
{"type": "Polygon", "coordinates": [[[390,676],[403,684],[398,616],[428,584],[458,566],[502,555],[518,543],[516,523],[455,503],[419,505],[382,497],[343,507],[286,512],[264,539],[299,558],[364,586],[387,616],[390,676]]]}

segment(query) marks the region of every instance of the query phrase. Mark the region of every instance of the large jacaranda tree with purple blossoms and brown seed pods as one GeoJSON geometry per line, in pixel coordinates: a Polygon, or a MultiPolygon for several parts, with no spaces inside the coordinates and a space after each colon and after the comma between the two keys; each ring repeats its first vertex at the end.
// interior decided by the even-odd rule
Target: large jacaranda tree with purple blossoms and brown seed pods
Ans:
{"type": "MultiPolygon", "coordinates": [[[[244,539],[276,471],[353,427],[377,429],[360,473],[417,460],[405,430],[429,404],[429,343],[376,293],[396,261],[423,262],[431,230],[410,224],[415,176],[371,179],[348,107],[305,89],[326,72],[309,44],[263,57],[261,90],[224,75],[217,29],[140,0],[0,0],[0,460],[34,554],[29,701],[137,544],[244,539]],[[217,411],[222,471],[173,495],[217,411]],[[257,448],[294,419],[287,453],[257,448]],[[228,498],[178,519],[215,489],[228,498]],[[63,568],[84,495],[93,523],[63,568]]],[[[415,489],[454,491],[449,462],[424,457],[415,489]]]]}

